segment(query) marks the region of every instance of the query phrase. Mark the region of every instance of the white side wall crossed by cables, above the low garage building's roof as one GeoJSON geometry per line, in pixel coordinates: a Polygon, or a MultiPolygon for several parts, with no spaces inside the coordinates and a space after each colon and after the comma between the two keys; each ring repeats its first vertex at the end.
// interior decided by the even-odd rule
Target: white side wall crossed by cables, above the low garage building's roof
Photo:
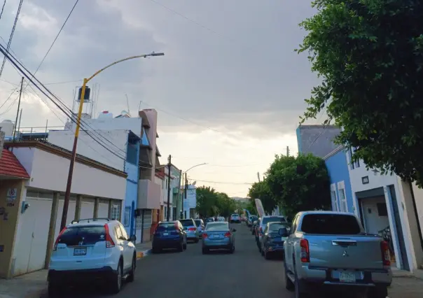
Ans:
{"type": "MultiPolygon", "coordinates": [[[[96,130],[89,132],[89,134],[80,132],[76,152],[97,162],[111,166],[114,169],[123,171],[124,159],[126,159],[127,153],[128,133],[129,130],[125,129],[96,130]],[[101,144],[92,139],[90,135],[94,135],[95,139],[101,144]]],[[[74,132],[71,130],[50,130],[48,132],[49,143],[69,151],[74,146],[74,138],[74,132]]]]}

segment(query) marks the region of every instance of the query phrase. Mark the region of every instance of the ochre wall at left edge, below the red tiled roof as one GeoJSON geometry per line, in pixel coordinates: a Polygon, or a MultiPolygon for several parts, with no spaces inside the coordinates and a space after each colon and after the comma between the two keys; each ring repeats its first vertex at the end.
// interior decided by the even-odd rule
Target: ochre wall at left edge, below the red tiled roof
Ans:
{"type": "Polygon", "coordinates": [[[23,190],[25,187],[22,180],[0,180],[0,278],[11,277],[11,259],[15,247],[23,190]],[[17,190],[13,206],[7,201],[9,189],[17,190]]]}

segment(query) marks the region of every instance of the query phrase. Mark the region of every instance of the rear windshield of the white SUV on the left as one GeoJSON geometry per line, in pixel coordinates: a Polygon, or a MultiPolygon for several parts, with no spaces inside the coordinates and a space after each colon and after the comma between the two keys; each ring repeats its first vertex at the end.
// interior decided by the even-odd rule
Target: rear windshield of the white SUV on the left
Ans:
{"type": "Polygon", "coordinates": [[[60,236],[58,243],[63,243],[67,246],[90,246],[95,245],[99,241],[106,241],[106,229],[104,229],[104,226],[68,227],[60,236]]]}

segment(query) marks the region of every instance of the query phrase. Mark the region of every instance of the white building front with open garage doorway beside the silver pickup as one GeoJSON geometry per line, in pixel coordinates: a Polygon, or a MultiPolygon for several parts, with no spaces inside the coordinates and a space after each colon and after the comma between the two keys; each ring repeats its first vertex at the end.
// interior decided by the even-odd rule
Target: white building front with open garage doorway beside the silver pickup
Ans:
{"type": "Polygon", "coordinates": [[[389,227],[398,269],[418,269],[423,263],[423,250],[408,183],[394,174],[367,170],[362,161],[350,164],[350,160],[351,152],[347,162],[354,213],[370,234],[389,227]]]}

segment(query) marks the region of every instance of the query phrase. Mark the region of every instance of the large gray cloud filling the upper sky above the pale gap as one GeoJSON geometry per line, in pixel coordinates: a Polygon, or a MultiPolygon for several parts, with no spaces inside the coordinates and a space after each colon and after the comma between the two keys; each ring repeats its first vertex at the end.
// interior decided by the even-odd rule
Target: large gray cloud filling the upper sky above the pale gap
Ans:
{"type": "MultiPolygon", "coordinates": [[[[34,3],[55,17],[56,32],[72,2],[25,1],[22,16],[34,15],[34,3]]],[[[313,13],[309,1],[158,2],[193,21],[148,0],[80,1],[37,77],[43,82],[75,80],[120,57],[163,51],[165,57],[104,72],[96,80],[102,86],[99,108],[119,113],[126,109],[126,93],[133,111],[143,100],[217,130],[256,137],[294,132],[303,99],[318,82],[305,55],[293,52],[303,36],[298,23],[313,13]]],[[[8,3],[1,23],[13,24],[13,6],[17,1],[8,3]]],[[[48,22],[46,15],[37,16],[48,22]]],[[[25,28],[24,21],[22,17],[12,48],[34,71],[55,34],[25,28]]],[[[6,38],[8,31],[0,29],[1,36],[6,38]]],[[[2,78],[6,74],[17,78],[10,67],[2,78]]],[[[71,105],[74,85],[49,87],[71,105]]],[[[202,129],[180,118],[160,113],[161,129],[202,129]]]]}

